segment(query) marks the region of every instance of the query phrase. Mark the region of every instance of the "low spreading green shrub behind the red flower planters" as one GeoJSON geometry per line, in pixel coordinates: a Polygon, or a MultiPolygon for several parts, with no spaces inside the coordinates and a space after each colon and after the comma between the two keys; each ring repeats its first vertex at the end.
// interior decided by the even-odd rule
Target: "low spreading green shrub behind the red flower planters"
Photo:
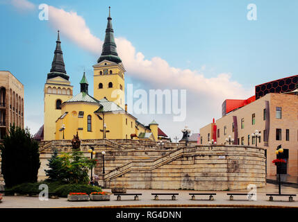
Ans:
{"type": "Polygon", "coordinates": [[[85,184],[61,185],[55,189],[54,192],[60,197],[67,197],[67,195],[72,192],[86,194],[90,194],[92,192],[101,192],[101,188],[85,184]]]}

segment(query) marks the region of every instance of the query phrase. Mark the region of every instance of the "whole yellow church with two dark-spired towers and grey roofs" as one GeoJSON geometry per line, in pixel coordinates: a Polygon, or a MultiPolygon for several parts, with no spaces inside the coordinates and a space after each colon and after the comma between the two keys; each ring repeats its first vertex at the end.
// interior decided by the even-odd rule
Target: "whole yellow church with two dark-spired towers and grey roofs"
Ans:
{"type": "Polygon", "coordinates": [[[36,138],[44,141],[72,139],[169,139],[158,123],[148,126],[127,112],[124,94],[125,69],[117,54],[110,10],[101,56],[93,66],[94,97],[88,94],[83,73],[81,92],[73,96],[73,86],[65,71],[60,35],[44,85],[44,126],[36,138]]]}

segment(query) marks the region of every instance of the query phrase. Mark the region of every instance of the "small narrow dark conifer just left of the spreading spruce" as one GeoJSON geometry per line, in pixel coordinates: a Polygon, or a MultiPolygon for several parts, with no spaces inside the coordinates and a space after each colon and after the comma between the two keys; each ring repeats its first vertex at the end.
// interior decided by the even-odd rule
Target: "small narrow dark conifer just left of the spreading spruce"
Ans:
{"type": "Polygon", "coordinates": [[[53,155],[51,155],[51,159],[49,159],[49,163],[47,164],[49,169],[45,169],[46,176],[48,176],[47,181],[59,181],[62,180],[63,172],[62,172],[62,162],[58,157],[58,151],[53,151],[53,155]]]}

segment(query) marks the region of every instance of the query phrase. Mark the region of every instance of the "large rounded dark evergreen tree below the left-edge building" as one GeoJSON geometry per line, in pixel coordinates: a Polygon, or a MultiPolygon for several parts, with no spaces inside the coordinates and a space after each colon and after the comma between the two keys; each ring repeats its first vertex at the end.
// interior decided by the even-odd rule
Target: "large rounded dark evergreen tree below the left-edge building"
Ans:
{"type": "Polygon", "coordinates": [[[1,149],[1,171],[6,187],[24,182],[37,182],[40,168],[38,142],[33,139],[28,128],[10,126],[3,138],[1,149]]]}

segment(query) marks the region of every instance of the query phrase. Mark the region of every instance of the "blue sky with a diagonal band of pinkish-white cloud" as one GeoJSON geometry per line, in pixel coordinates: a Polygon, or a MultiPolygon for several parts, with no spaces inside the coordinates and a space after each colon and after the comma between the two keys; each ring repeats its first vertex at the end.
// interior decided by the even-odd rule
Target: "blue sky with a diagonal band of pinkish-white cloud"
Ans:
{"type": "Polygon", "coordinates": [[[24,84],[24,123],[32,134],[43,124],[44,83],[58,30],[74,95],[84,69],[93,95],[92,65],[101,54],[108,6],[126,86],[186,90],[183,121],[173,121],[173,114],[134,114],[146,125],[155,119],[172,140],[185,126],[199,133],[219,119],[225,99],[247,99],[255,85],[298,72],[295,0],[0,0],[0,70],[24,84]],[[247,18],[250,3],[254,20],[247,18]],[[49,19],[40,19],[40,4],[49,6],[49,19]]]}

